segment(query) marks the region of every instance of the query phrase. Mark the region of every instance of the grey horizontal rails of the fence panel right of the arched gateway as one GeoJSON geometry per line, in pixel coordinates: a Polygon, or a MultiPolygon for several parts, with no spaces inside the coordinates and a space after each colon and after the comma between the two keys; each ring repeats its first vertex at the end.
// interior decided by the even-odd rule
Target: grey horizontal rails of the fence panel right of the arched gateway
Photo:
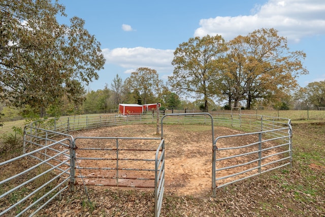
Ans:
{"type": "MultiPolygon", "coordinates": [[[[281,123],[281,125],[282,125],[282,123],[281,123]]],[[[234,158],[243,158],[245,156],[251,156],[252,154],[258,154],[258,157],[256,157],[253,160],[247,160],[244,163],[239,163],[236,165],[231,165],[231,166],[226,166],[226,167],[221,167],[221,168],[215,169],[214,170],[215,178],[213,180],[215,182],[233,178],[233,177],[237,177],[239,175],[244,175],[246,173],[248,173],[248,174],[245,175],[244,177],[239,177],[239,178],[232,179],[230,181],[225,181],[224,183],[221,183],[219,185],[216,185],[216,183],[214,182],[213,183],[213,187],[214,187],[213,195],[216,194],[215,189],[217,189],[217,188],[221,188],[228,184],[231,184],[231,183],[234,183],[234,182],[246,179],[246,178],[250,178],[250,177],[253,177],[258,174],[262,174],[266,171],[270,171],[270,170],[273,170],[276,168],[281,168],[283,166],[291,165],[291,161],[292,161],[291,126],[289,125],[289,127],[282,127],[282,128],[277,126],[276,129],[267,130],[267,131],[244,133],[244,134],[237,134],[237,135],[228,135],[228,136],[219,136],[214,141],[214,149],[217,151],[243,149],[243,148],[246,148],[246,149],[250,148],[250,151],[245,152],[245,153],[233,154],[233,155],[230,154],[227,157],[222,157],[219,159],[216,159],[216,157],[213,156],[213,159],[215,159],[214,163],[216,163],[216,162],[226,161],[226,160],[230,160],[230,159],[234,159],[234,158]],[[287,132],[286,135],[281,133],[281,132],[285,132],[285,131],[287,132]],[[280,133],[277,133],[277,132],[280,132],[280,133]],[[251,142],[246,145],[240,145],[240,146],[235,146],[235,147],[219,147],[218,148],[217,142],[220,139],[229,139],[229,138],[252,136],[252,135],[258,135],[258,140],[256,142],[251,142]],[[266,137],[271,136],[273,138],[262,139],[263,135],[265,135],[266,137]],[[285,142],[283,143],[282,141],[285,141],[285,142]],[[275,143],[273,143],[273,142],[275,142],[275,143]],[[277,142],[280,144],[276,144],[277,142]],[[263,144],[265,144],[267,147],[262,148],[263,144]],[[268,146],[267,144],[270,144],[271,146],[268,146]],[[255,146],[258,146],[257,149],[254,149],[255,146]],[[287,147],[287,149],[283,149],[285,147],[287,147]],[[264,153],[266,151],[276,151],[276,152],[268,154],[267,156],[262,156],[262,153],[264,153]],[[279,156],[278,159],[272,159],[277,156],[279,156]],[[266,162],[262,163],[264,161],[266,161],[266,162]],[[277,163],[281,163],[281,162],[284,162],[284,163],[282,165],[275,165],[274,167],[266,168],[267,166],[272,166],[273,164],[277,164],[277,163]],[[257,165],[254,166],[254,164],[256,164],[256,163],[257,163],[257,165]],[[251,167],[249,165],[253,165],[253,166],[251,167]],[[233,169],[236,167],[243,168],[243,169],[236,173],[224,175],[221,177],[216,177],[216,172],[219,172],[222,170],[229,170],[229,169],[233,169]],[[266,169],[262,170],[262,168],[266,168],[266,169]],[[251,173],[253,171],[256,171],[256,172],[251,173]]]]}

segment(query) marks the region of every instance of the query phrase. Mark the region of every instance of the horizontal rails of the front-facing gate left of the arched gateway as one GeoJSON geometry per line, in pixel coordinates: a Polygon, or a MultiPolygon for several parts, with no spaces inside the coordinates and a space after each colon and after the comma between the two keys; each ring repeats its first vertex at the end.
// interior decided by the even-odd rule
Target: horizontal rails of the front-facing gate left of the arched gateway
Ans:
{"type": "MultiPolygon", "coordinates": [[[[102,185],[108,185],[108,186],[120,186],[123,185],[125,187],[137,187],[137,188],[154,188],[154,185],[152,183],[152,185],[146,185],[148,187],[144,187],[142,184],[143,183],[139,183],[139,185],[137,184],[123,184],[120,183],[120,179],[122,179],[123,181],[125,180],[154,180],[154,164],[152,164],[152,168],[146,168],[144,167],[145,165],[148,167],[150,166],[150,162],[155,162],[154,159],[154,153],[157,150],[157,146],[156,145],[155,148],[139,148],[138,146],[136,146],[136,148],[134,147],[134,145],[132,144],[123,144],[121,145],[121,141],[132,141],[132,140],[158,140],[160,141],[161,138],[139,138],[139,137],[76,137],[74,140],[74,143],[78,143],[78,148],[76,149],[76,153],[77,156],[78,155],[82,155],[81,152],[82,151],[103,151],[107,156],[106,157],[76,157],[76,161],[81,161],[84,163],[78,163],[78,165],[76,166],[76,170],[79,171],[80,175],[76,175],[76,178],[82,178],[82,183],[77,183],[77,184],[85,184],[85,185],[94,185],[94,183],[90,183],[87,182],[85,183],[83,181],[84,178],[88,178],[88,179],[113,179],[115,180],[114,183],[109,182],[106,184],[100,184],[102,185]],[[113,141],[114,144],[110,144],[111,147],[105,147],[105,148],[91,148],[88,146],[84,146],[81,145],[81,141],[82,140],[88,140],[88,139],[99,139],[99,140],[105,140],[105,141],[113,141]],[[150,152],[152,153],[152,158],[143,158],[141,157],[141,153],[138,154],[137,158],[134,158],[135,153],[137,152],[141,152],[141,153],[148,153],[150,154],[150,152]],[[125,153],[129,153],[131,156],[130,157],[121,157],[121,154],[125,154],[125,153]],[[96,161],[96,162],[101,162],[101,161],[105,161],[105,164],[107,165],[115,165],[114,167],[102,167],[102,166],[96,166],[98,163],[91,163],[92,161],[96,161]],[[122,167],[121,164],[122,162],[143,162],[145,163],[144,165],[136,165],[133,164],[132,168],[127,168],[127,167],[122,167]],[[87,166],[82,166],[80,164],[84,164],[87,166]],[[94,166],[90,166],[90,164],[94,165],[94,166]],[[101,171],[101,170],[108,170],[111,172],[114,172],[114,174],[111,174],[109,176],[103,176],[103,175],[87,175],[87,171],[91,171],[91,170],[97,170],[97,171],[101,171]],[[126,172],[126,174],[124,174],[124,176],[121,176],[119,173],[120,172],[126,172]],[[141,173],[142,176],[140,177],[135,177],[135,174],[132,174],[130,172],[132,171],[143,171],[143,172],[152,172],[152,175],[150,176],[149,174],[146,173],[141,173]]],[[[107,144],[106,144],[107,146],[107,144]]],[[[140,175],[138,173],[138,175],[140,175]]],[[[96,184],[95,184],[96,185],[96,184]]]]}

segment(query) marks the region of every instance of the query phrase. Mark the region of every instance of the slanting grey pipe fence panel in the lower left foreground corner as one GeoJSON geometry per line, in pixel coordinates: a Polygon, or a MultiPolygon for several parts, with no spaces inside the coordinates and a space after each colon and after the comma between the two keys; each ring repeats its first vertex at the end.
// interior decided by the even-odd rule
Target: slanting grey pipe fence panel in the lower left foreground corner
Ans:
{"type": "MultiPolygon", "coordinates": [[[[0,163],[0,167],[10,166],[13,162],[18,162],[21,167],[15,168],[14,171],[2,173],[3,180],[0,181],[1,187],[1,207],[0,216],[20,216],[27,214],[34,215],[31,207],[44,207],[47,203],[59,196],[63,191],[69,188],[70,159],[65,159],[66,153],[69,153],[69,147],[61,148],[58,151],[53,147],[67,142],[71,143],[69,138],[65,138],[50,144],[36,147],[21,156],[0,163]],[[46,158],[41,158],[41,154],[46,153],[46,158]],[[36,160],[36,158],[41,159],[36,160]],[[56,159],[62,159],[61,163],[57,163],[56,159]],[[65,159],[65,160],[63,160],[65,159]],[[13,173],[15,173],[13,175],[13,173]]],[[[36,144],[33,142],[33,144],[36,144]]],[[[44,156],[44,155],[43,155],[44,156]]]]}

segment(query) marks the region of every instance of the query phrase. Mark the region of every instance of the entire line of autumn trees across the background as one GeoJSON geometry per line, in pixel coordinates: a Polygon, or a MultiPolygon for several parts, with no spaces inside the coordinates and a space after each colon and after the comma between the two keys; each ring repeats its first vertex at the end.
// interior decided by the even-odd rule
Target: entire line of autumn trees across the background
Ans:
{"type": "Polygon", "coordinates": [[[0,103],[24,116],[109,112],[119,103],[160,102],[177,109],[186,107],[181,100],[186,97],[203,111],[215,108],[215,102],[245,109],[292,108],[293,100],[325,106],[323,82],[305,88],[297,83],[308,74],[306,54],[291,51],[273,28],[230,41],[219,35],[190,38],[176,48],[166,83],[156,70],[138,68],[124,81],[116,75],[103,90],[87,91],[105,58],[84,20],[73,17],[69,25],[59,24],[56,16],[67,15],[58,1],[3,0],[0,8],[0,103]]]}

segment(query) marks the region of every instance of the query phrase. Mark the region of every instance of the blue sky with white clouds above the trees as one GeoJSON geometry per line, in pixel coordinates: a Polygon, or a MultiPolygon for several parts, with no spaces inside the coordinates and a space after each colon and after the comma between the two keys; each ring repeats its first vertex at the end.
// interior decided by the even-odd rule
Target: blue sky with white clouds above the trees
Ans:
{"type": "Polygon", "coordinates": [[[231,0],[231,1],[112,1],[60,0],[67,18],[78,16],[85,28],[101,42],[105,69],[89,90],[111,86],[118,74],[123,80],[139,67],[157,71],[165,82],[173,72],[171,61],[179,44],[189,38],[221,35],[232,40],[258,28],[275,28],[286,37],[291,51],[307,54],[308,75],[301,86],[325,80],[324,0],[231,0]]]}

